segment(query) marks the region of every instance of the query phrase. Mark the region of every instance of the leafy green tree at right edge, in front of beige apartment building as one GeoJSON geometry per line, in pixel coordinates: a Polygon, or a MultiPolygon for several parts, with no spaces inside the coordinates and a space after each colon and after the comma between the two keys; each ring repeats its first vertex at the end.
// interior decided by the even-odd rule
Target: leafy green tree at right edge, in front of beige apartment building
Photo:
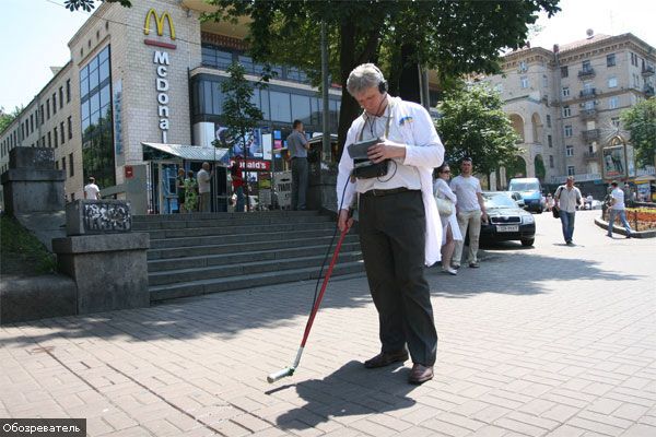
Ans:
{"type": "Polygon", "coordinates": [[[640,165],[656,165],[656,98],[642,101],[620,115],[640,165]]]}

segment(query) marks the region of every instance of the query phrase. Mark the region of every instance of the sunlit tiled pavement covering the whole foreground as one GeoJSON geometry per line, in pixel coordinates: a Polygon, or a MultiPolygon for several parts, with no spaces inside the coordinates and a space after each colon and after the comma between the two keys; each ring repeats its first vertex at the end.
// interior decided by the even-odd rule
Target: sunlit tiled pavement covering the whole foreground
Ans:
{"type": "MultiPolygon", "coordinates": [[[[429,271],[435,379],[367,370],[363,277],[333,281],[301,367],[314,283],[0,329],[0,417],[86,417],[91,436],[656,436],[656,240],[574,240],[538,215],[536,247],[429,271]]],[[[407,363],[408,364],[408,363],[407,363]]]]}

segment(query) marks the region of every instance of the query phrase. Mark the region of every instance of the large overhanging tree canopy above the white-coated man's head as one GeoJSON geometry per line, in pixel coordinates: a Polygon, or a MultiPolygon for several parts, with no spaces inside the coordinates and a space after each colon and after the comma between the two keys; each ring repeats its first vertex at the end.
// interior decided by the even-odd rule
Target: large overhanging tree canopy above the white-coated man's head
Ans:
{"type": "MultiPolygon", "coordinates": [[[[324,21],[329,28],[330,73],[337,78],[332,82],[344,86],[354,67],[376,62],[396,94],[403,69],[417,62],[435,69],[441,80],[497,72],[500,49],[523,46],[537,13],[543,10],[551,16],[560,10],[558,2],[209,0],[218,11],[204,19],[237,22],[248,16],[247,43],[255,60],[297,66],[315,84],[324,21]]],[[[355,99],[342,93],[340,149],[359,111],[355,99]]]]}

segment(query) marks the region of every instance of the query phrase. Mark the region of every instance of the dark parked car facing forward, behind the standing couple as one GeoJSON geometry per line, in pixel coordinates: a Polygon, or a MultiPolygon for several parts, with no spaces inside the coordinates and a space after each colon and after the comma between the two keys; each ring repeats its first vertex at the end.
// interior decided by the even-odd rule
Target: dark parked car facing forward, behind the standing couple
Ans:
{"type": "Polygon", "coordinates": [[[536,239],[536,220],[531,213],[517,206],[506,191],[484,191],[488,223],[481,224],[482,241],[519,240],[532,246],[536,239]]]}

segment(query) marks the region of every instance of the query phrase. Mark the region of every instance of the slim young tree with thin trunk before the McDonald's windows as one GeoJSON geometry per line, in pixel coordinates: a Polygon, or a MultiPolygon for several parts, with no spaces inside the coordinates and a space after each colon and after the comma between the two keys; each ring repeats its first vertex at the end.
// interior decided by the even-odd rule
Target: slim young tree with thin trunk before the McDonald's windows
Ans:
{"type": "MultiPolygon", "coordinates": [[[[246,133],[257,127],[258,121],[262,119],[262,111],[253,103],[254,85],[246,80],[244,74],[246,69],[237,62],[233,62],[227,68],[230,78],[221,83],[221,92],[223,93],[223,122],[227,127],[227,138],[241,139],[244,158],[248,160],[248,143],[246,142],[246,133]]],[[[255,86],[266,86],[262,82],[258,82],[255,86]]],[[[214,140],[213,145],[216,147],[218,140],[214,140]]],[[[234,147],[234,143],[232,144],[234,147]]],[[[245,161],[246,162],[246,161],[245,161]]],[[[246,172],[244,172],[246,174],[246,172]]],[[[248,185],[246,184],[246,210],[250,209],[248,200],[248,185]]]]}

